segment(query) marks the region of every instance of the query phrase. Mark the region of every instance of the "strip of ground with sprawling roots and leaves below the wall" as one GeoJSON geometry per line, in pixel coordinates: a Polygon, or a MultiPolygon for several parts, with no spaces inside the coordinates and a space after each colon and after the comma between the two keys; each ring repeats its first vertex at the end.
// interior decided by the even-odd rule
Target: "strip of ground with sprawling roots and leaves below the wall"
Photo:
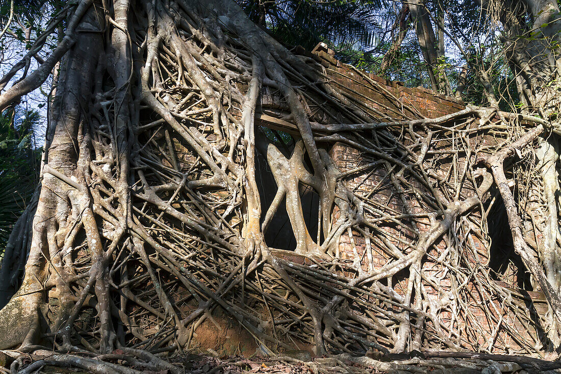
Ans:
{"type": "MultiPolygon", "coordinates": [[[[297,358],[293,355],[278,357],[212,357],[199,355],[177,355],[168,362],[158,357],[147,357],[145,353],[135,354],[128,350],[116,350],[111,354],[91,355],[54,354],[36,350],[33,354],[20,355],[11,352],[16,359],[11,363],[12,373],[33,373],[52,367],[82,369],[93,373],[137,374],[147,372],[194,374],[223,373],[314,373],[314,374],[366,374],[366,373],[453,373],[468,372],[482,374],[496,373],[547,373],[561,368],[559,362],[542,361],[518,356],[490,354],[457,354],[433,352],[434,357],[425,357],[417,352],[407,355],[389,355],[373,359],[350,354],[331,355],[323,358],[297,358]],[[398,357],[399,356],[399,357],[398,357]],[[421,357],[422,356],[422,357],[421,357]]],[[[7,370],[4,370],[8,372],[7,370]]]]}

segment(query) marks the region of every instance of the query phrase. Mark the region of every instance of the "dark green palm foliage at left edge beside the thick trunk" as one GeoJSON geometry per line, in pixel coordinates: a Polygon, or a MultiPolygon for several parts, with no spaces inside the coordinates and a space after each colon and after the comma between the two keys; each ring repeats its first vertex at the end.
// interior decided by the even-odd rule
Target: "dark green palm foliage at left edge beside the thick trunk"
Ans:
{"type": "Polygon", "coordinates": [[[33,130],[40,120],[36,110],[0,114],[0,252],[38,183],[41,149],[33,130]]]}

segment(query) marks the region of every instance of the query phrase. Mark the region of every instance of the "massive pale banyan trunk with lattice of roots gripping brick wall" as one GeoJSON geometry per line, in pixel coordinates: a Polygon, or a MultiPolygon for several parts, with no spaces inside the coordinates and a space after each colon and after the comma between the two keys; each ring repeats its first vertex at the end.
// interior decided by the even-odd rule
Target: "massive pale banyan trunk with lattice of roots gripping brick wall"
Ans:
{"type": "MultiPolygon", "coordinates": [[[[63,16],[52,58],[0,97],[17,100],[60,60],[42,184],[0,270],[1,349],[121,349],[150,368],[148,352],[187,349],[218,311],[269,354],[549,344],[520,334],[554,318],[486,266],[498,193],[485,163],[503,188],[504,160],[555,125],[478,108],[419,118],[355,71],[387,96],[374,103],[229,0],[82,0],[63,16]],[[363,162],[342,170],[335,142],[363,162]],[[302,188],[318,196],[313,231],[302,188]],[[292,252],[265,240],[281,213],[292,252]]],[[[541,260],[523,260],[548,291],[541,260]]]]}

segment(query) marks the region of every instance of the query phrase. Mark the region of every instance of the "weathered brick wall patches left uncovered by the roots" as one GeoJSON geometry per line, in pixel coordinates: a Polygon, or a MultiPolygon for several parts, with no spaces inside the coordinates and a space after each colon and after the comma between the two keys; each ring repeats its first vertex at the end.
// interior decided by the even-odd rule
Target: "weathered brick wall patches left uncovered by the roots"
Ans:
{"type": "MultiPolygon", "coordinates": [[[[380,112],[391,112],[397,110],[396,100],[404,104],[404,107],[411,113],[420,118],[436,118],[461,110],[465,110],[466,106],[463,101],[453,97],[445,96],[434,92],[433,90],[424,87],[407,88],[402,82],[389,81],[383,77],[369,74],[367,76],[359,75],[356,73],[354,67],[346,65],[335,59],[334,51],[328,49],[324,44],[319,44],[312,52],[315,58],[318,58],[321,65],[326,69],[328,76],[337,80],[341,86],[347,90],[349,95],[355,95],[357,98],[368,97],[373,101],[379,103],[374,104],[374,107],[380,112]],[[392,96],[394,98],[392,98],[392,96]]],[[[402,108],[401,108],[402,109],[402,108]]],[[[479,139],[484,144],[496,144],[497,140],[492,136],[483,136],[479,139]]],[[[373,158],[368,154],[361,152],[361,150],[347,145],[344,143],[334,143],[330,148],[330,155],[333,157],[335,163],[342,172],[356,170],[363,165],[368,165],[373,162],[373,158]]],[[[450,160],[452,161],[452,160],[450,160]]],[[[444,174],[445,168],[459,167],[461,165],[452,165],[448,163],[443,165],[438,170],[438,174],[444,174]]],[[[403,201],[399,198],[396,187],[392,185],[390,176],[387,170],[378,168],[371,170],[370,168],[365,171],[353,173],[346,179],[347,184],[353,191],[357,191],[367,199],[379,200],[388,204],[389,207],[394,209],[394,212],[406,213],[407,208],[404,206],[403,201]]],[[[423,186],[419,183],[413,184],[413,190],[407,191],[407,200],[411,207],[411,213],[417,215],[424,215],[428,212],[421,208],[420,204],[416,201],[415,189],[422,190],[423,186]]],[[[426,191],[425,191],[426,192],[426,191]]],[[[488,199],[490,200],[490,199],[488,199]]],[[[383,205],[380,204],[380,205],[383,205]]],[[[391,214],[388,212],[388,214],[391,214]]],[[[335,217],[337,213],[335,212],[335,217]]],[[[480,218],[480,215],[479,215],[480,218]]],[[[429,222],[425,225],[419,225],[420,231],[426,231],[429,228],[429,222]]],[[[396,225],[388,224],[385,227],[390,235],[394,236],[393,244],[396,247],[403,248],[403,241],[400,236],[406,235],[406,232],[396,225]]],[[[508,229],[507,229],[508,230],[508,229]]],[[[489,263],[489,251],[491,242],[488,235],[484,231],[477,230],[477,236],[471,236],[469,240],[479,251],[476,257],[469,257],[471,264],[489,263]]],[[[495,240],[500,240],[496,238],[495,240]]],[[[512,245],[512,243],[511,243],[512,245]]],[[[429,253],[429,256],[422,263],[421,271],[430,273],[434,276],[435,282],[431,285],[425,285],[425,293],[428,298],[434,300],[434,304],[440,304],[449,298],[450,292],[453,288],[465,287],[468,292],[468,298],[465,300],[465,306],[468,313],[472,314],[477,320],[481,322],[479,331],[476,334],[468,332],[467,326],[459,327],[459,330],[465,332],[466,338],[477,342],[481,348],[488,348],[497,339],[503,340],[506,347],[513,350],[521,349],[518,344],[523,341],[531,340],[536,336],[543,336],[544,331],[541,329],[530,329],[528,331],[527,325],[523,321],[519,321],[514,313],[505,312],[502,306],[502,299],[494,299],[491,303],[483,304],[480,295],[473,286],[473,281],[468,281],[465,285],[452,284],[449,279],[440,279],[440,275],[445,272],[445,266],[438,258],[446,250],[447,243],[441,240],[435,245],[434,250],[429,253]],[[489,315],[493,317],[489,317],[489,315]],[[505,323],[512,326],[514,335],[517,339],[505,336],[504,331],[496,329],[496,320],[503,319],[505,323]]],[[[343,234],[339,241],[339,256],[349,262],[360,261],[362,268],[365,271],[369,269],[380,269],[388,263],[390,256],[384,253],[384,250],[377,247],[373,243],[366,243],[366,240],[360,232],[351,231],[349,234],[343,234]]],[[[491,255],[492,256],[492,255],[491,255]]],[[[498,254],[496,255],[498,256],[498,254]]],[[[508,259],[505,260],[508,262],[508,259]]],[[[518,269],[511,263],[511,268],[500,279],[495,280],[498,284],[505,286],[512,290],[512,297],[518,299],[521,307],[530,309],[531,314],[537,316],[538,314],[544,315],[548,312],[548,304],[545,300],[544,293],[541,291],[519,290],[518,289],[518,269]]],[[[522,271],[526,271],[523,269],[522,271]]],[[[392,280],[394,290],[399,295],[404,295],[407,290],[407,276],[404,273],[401,277],[396,277],[392,280]]],[[[440,318],[448,326],[452,327],[455,324],[466,325],[466,321],[458,320],[457,316],[453,316],[451,312],[440,313],[440,318]]]]}

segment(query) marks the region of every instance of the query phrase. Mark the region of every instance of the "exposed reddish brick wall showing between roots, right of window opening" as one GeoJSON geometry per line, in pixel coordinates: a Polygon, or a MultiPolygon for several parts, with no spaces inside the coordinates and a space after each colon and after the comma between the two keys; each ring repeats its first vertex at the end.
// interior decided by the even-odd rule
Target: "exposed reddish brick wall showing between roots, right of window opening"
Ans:
{"type": "MultiPolygon", "coordinates": [[[[463,104],[462,101],[438,94],[426,88],[407,88],[404,87],[401,82],[388,81],[373,74],[364,76],[353,69],[353,67],[335,60],[334,52],[330,51],[325,45],[318,45],[312,53],[316,56],[316,60],[325,67],[327,76],[337,82],[339,87],[346,90],[349,95],[374,99],[373,101],[376,102],[374,107],[379,110],[381,114],[399,118],[401,110],[404,110],[405,112],[409,112],[408,116],[410,117],[436,118],[465,108],[465,104],[463,104]],[[398,103],[401,103],[402,107],[398,107],[398,103]]],[[[477,141],[483,143],[496,142],[493,138],[481,138],[477,141]]],[[[439,148],[444,149],[445,147],[449,147],[449,145],[443,144],[442,147],[439,148]]],[[[353,170],[368,162],[376,161],[362,154],[357,149],[342,143],[335,143],[330,150],[330,154],[342,172],[353,170]]],[[[437,174],[441,174],[441,172],[444,171],[436,171],[437,174]]],[[[355,189],[363,196],[369,196],[369,198],[378,201],[383,200],[384,204],[389,206],[390,209],[393,209],[394,212],[405,212],[402,200],[398,198],[396,190],[387,179],[387,172],[385,172],[383,168],[376,168],[374,172],[368,169],[353,175],[351,179],[347,179],[347,184],[351,189],[355,189]],[[384,181],[384,179],[386,180],[384,181]]],[[[419,184],[416,184],[414,187],[421,193],[429,193],[429,191],[424,190],[419,184]]],[[[414,193],[408,194],[408,203],[413,213],[423,212],[421,208],[423,204],[417,201],[414,193]]],[[[392,214],[391,212],[387,213],[388,215],[392,214]]],[[[477,213],[472,214],[477,215],[477,213]]],[[[337,212],[335,212],[335,216],[336,215],[337,212]]],[[[425,220],[424,223],[421,222],[417,226],[422,232],[428,229],[430,222],[425,220]]],[[[414,236],[412,230],[408,230],[403,226],[399,227],[391,224],[384,226],[383,230],[392,244],[404,250],[404,252],[407,252],[407,245],[404,243],[413,242],[412,238],[414,236]]],[[[476,258],[468,258],[468,262],[471,264],[487,263],[489,254],[487,253],[486,244],[482,243],[476,236],[471,236],[471,240],[473,240],[475,246],[479,248],[480,253],[477,254],[476,258]]],[[[344,234],[339,241],[339,257],[349,261],[352,261],[355,256],[360,257],[362,267],[366,271],[369,270],[369,266],[374,266],[374,268],[384,266],[389,259],[388,254],[384,253],[384,245],[380,244],[378,246],[373,241],[370,243],[370,246],[372,250],[372,264],[369,264],[370,261],[368,261],[365,253],[367,244],[364,235],[355,231],[351,232],[351,235],[344,234]]],[[[433,260],[434,258],[438,258],[446,247],[447,244],[443,239],[441,239],[439,243],[435,243],[433,248],[429,251],[429,256],[422,265],[423,272],[436,276],[448,270],[443,264],[436,263],[433,260]]],[[[394,290],[400,294],[404,294],[407,288],[407,279],[408,276],[406,275],[396,276],[393,280],[394,290]]],[[[511,288],[515,293],[517,292],[517,290],[515,290],[516,277],[511,277],[507,284],[503,283],[502,285],[511,288]]],[[[425,285],[425,298],[434,299],[436,301],[441,300],[443,297],[447,297],[453,286],[454,285],[451,284],[448,279],[444,279],[440,284],[425,285]]],[[[439,314],[440,321],[442,321],[444,325],[448,325],[450,329],[458,331],[465,339],[470,340],[471,343],[474,344],[473,346],[479,345],[483,349],[488,347],[490,341],[499,339],[504,342],[504,345],[509,346],[513,352],[517,352],[517,350],[521,349],[521,341],[532,341],[530,334],[528,334],[523,326],[523,322],[516,320],[512,314],[504,312],[500,300],[493,299],[490,302],[484,302],[480,294],[473,292],[475,288],[472,284],[466,285],[466,289],[467,291],[463,293],[463,295],[466,295],[466,300],[463,301],[468,305],[469,313],[480,323],[480,332],[474,334],[473,330],[470,329],[469,326],[466,326],[465,321],[454,321],[453,316],[449,312],[440,312],[439,314]],[[503,318],[504,325],[508,326],[511,332],[507,334],[505,329],[494,331],[496,320],[488,320],[488,314],[485,313],[486,308],[492,312],[491,314],[494,315],[496,320],[503,318]],[[513,335],[517,337],[513,339],[513,335]]],[[[520,298],[522,304],[526,303],[527,307],[530,307],[530,298],[535,301],[531,307],[534,313],[543,314],[548,311],[548,306],[544,302],[544,296],[541,292],[523,291],[523,293],[525,295],[522,295],[520,298]]],[[[539,331],[532,331],[534,337],[538,334],[540,334],[539,331]]]]}

